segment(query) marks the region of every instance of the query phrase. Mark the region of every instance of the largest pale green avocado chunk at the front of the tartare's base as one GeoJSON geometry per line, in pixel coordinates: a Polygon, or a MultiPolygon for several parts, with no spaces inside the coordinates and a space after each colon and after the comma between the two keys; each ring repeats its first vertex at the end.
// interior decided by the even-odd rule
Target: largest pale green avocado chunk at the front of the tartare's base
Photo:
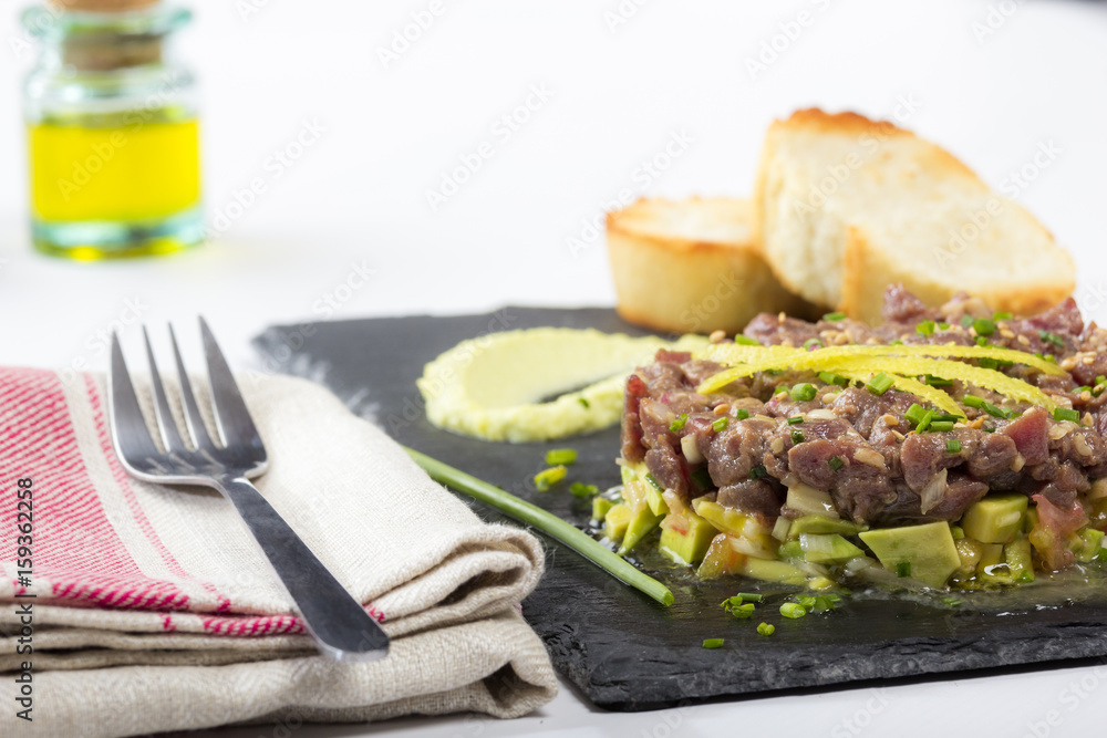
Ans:
{"type": "Polygon", "coordinates": [[[911,564],[911,576],[929,586],[944,586],[961,565],[949,523],[929,522],[903,528],[881,528],[858,533],[886,569],[911,564]]]}

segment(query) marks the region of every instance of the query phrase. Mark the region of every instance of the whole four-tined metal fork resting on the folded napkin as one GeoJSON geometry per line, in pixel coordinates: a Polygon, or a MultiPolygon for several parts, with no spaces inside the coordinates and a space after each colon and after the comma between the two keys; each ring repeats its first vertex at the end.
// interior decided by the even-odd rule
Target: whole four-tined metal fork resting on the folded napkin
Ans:
{"type": "Polygon", "coordinates": [[[112,440],[120,460],[128,472],[144,481],[201,485],[223,492],[292,595],[308,632],[315,638],[323,655],[333,661],[383,658],[387,654],[389,636],[250,484],[250,478],[265,472],[268,467],[266,449],[230,367],[203,318],[200,334],[211,385],[218,443],[204,425],[180,358],[177,336],[169,326],[185,425],[192,441],[186,445],[173,419],[165,387],[154,363],[149,335],[143,326],[154,392],[154,415],[165,451],[159,450],[151,438],[123,361],[118,336],[112,335],[107,396],[112,440]]]}

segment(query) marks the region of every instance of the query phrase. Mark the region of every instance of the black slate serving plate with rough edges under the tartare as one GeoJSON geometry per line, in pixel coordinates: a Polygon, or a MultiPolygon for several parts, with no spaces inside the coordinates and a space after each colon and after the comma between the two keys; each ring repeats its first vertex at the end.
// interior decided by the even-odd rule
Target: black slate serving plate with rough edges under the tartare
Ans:
{"type": "MultiPolygon", "coordinates": [[[[618,429],[550,444],[484,443],[431,426],[415,387],[423,365],[458,341],[540,325],[643,333],[606,309],[506,308],[490,315],[271,328],[255,345],[268,368],[322,382],[396,440],[584,527],[588,502],[565,486],[536,492],[531,478],[544,468],[548,448],[572,447],[579,458],[567,481],[601,489],[618,484],[618,429]]],[[[506,520],[472,505],[487,520],[506,520]]],[[[785,590],[768,588],[764,591],[774,604],[761,606],[753,621],[736,621],[718,603],[738,590],[755,589],[748,582],[696,583],[683,572],[662,569],[655,575],[676,596],[664,609],[555,541],[546,543],[548,571],[523,603],[524,615],[555,665],[609,709],[1107,655],[1103,586],[1035,591],[1033,596],[1046,606],[1025,597],[1020,604],[1002,594],[983,604],[949,607],[910,596],[858,593],[838,610],[795,621],[780,617],[775,604],[785,590]],[[773,636],[757,635],[762,621],[776,625],[773,636]],[[704,649],[707,637],[723,637],[726,644],[704,649]]]]}

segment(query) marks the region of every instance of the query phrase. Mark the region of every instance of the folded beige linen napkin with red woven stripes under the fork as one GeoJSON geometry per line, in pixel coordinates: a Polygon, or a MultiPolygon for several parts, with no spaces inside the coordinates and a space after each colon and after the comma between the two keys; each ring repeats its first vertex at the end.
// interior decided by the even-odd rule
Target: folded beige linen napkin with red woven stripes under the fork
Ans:
{"type": "MultiPolygon", "coordinates": [[[[0,735],[513,717],[549,701],[549,658],[516,606],[541,575],[538,541],[482,522],[325,389],[239,384],[270,459],[259,489],[382,623],[387,658],[317,655],[219,493],[128,477],[103,377],[0,368],[0,735]],[[29,586],[20,479],[32,490],[29,586]],[[15,715],[28,690],[31,723],[15,715]]],[[[148,406],[148,387],[139,394],[148,406]]]]}

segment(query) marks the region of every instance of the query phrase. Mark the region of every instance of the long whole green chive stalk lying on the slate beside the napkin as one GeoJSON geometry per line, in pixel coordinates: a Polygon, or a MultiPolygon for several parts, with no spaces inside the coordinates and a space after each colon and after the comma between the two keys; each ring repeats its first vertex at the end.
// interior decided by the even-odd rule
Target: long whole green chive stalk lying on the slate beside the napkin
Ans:
{"type": "Polygon", "coordinates": [[[601,545],[599,541],[592,539],[588,533],[577,529],[557,516],[542,510],[536,505],[531,505],[472,475],[455,469],[437,459],[433,459],[426,454],[421,454],[407,447],[404,447],[404,450],[435,481],[447,485],[451,489],[468,495],[485,505],[489,505],[519,522],[534,526],[550,538],[565,543],[620,582],[646,594],[666,607],[673,604],[673,593],[669,591],[668,586],[634,569],[634,567],[621,557],[615,555],[613,551],[601,545]]]}

